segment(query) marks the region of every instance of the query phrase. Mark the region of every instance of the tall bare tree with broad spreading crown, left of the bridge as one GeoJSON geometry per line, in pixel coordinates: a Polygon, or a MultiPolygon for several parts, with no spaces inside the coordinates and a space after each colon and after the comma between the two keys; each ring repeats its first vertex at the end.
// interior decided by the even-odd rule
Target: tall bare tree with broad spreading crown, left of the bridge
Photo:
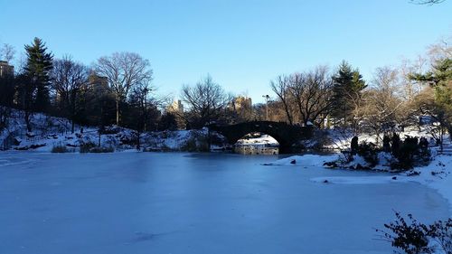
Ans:
{"type": "Polygon", "coordinates": [[[111,56],[99,58],[94,70],[108,79],[116,99],[116,123],[119,125],[120,104],[127,99],[134,87],[152,80],[152,70],[148,60],[133,52],[115,52],[111,56]]]}

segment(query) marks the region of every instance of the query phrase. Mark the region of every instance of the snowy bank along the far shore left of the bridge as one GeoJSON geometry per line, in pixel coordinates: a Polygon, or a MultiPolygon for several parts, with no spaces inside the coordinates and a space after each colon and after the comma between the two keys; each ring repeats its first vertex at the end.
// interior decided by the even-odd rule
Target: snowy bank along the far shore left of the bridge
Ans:
{"type": "MultiPolygon", "coordinates": [[[[106,132],[100,135],[97,127],[76,126],[75,133],[71,133],[71,123],[65,118],[48,117],[34,114],[32,118],[33,132],[28,133],[24,122],[23,112],[13,110],[9,125],[0,131],[0,150],[4,147],[4,140],[8,140],[7,149],[33,150],[38,152],[51,152],[55,146],[65,146],[69,152],[79,151],[83,144],[111,147],[115,151],[136,149],[137,132],[125,127],[107,127],[106,132]]],[[[193,146],[202,146],[202,139],[207,136],[207,129],[176,130],[148,132],[140,135],[141,148],[149,151],[180,151],[192,142],[193,146]]],[[[212,148],[221,148],[222,136],[212,133],[219,140],[212,148]]],[[[191,147],[193,148],[193,147],[191,147]]]]}

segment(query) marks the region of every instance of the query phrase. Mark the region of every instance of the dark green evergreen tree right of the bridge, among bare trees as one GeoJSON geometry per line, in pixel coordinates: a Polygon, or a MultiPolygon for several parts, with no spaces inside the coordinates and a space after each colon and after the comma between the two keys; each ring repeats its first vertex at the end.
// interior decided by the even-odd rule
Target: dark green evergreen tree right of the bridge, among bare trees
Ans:
{"type": "Polygon", "coordinates": [[[347,118],[352,114],[354,101],[360,99],[360,93],[366,88],[363,76],[358,70],[343,61],[339,65],[339,70],[333,77],[333,110],[332,116],[336,120],[343,120],[347,124],[347,118]]]}

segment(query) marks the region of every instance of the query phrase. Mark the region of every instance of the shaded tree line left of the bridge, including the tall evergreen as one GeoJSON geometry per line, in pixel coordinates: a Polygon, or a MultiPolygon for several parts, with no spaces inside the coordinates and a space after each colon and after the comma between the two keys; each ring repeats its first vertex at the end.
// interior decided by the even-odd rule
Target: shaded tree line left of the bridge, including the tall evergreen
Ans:
{"type": "MultiPolygon", "coordinates": [[[[5,48],[11,60],[11,47],[5,48]]],[[[71,56],[55,59],[39,38],[24,50],[24,66],[0,79],[0,104],[7,107],[2,116],[8,108],[23,110],[30,132],[36,112],[70,119],[72,132],[75,124],[146,130],[160,114],[150,62],[137,53],[115,52],[86,66],[71,56]]]]}

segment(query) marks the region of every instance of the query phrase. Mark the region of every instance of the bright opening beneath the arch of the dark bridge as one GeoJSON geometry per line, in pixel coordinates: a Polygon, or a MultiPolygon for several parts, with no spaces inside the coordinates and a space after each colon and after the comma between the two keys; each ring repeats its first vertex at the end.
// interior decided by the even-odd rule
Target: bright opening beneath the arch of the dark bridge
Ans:
{"type": "Polygon", "coordinates": [[[242,155],[278,155],[279,142],[268,134],[250,132],[241,136],[234,144],[234,152],[242,155]]]}

